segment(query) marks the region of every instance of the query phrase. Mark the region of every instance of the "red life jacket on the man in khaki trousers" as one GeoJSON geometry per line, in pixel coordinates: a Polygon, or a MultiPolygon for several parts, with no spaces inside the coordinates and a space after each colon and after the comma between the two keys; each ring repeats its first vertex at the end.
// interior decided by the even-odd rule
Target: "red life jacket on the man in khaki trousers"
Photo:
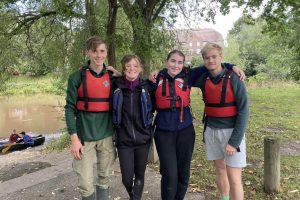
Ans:
{"type": "Polygon", "coordinates": [[[108,72],[95,77],[89,68],[81,69],[82,82],[77,90],[77,109],[89,112],[109,111],[111,83],[108,72]]]}

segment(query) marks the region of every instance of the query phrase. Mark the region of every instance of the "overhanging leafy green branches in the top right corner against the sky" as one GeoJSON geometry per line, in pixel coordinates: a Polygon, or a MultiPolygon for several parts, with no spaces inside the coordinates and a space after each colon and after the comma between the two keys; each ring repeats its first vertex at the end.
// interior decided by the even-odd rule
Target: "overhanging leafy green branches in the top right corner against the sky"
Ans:
{"type": "MultiPolygon", "coordinates": [[[[290,75],[300,80],[300,3],[299,1],[232,1],[238,6],[245,6],[245,12],[251,14],[261,9],[260,18],[265,20],[264,33],[277,37],[277,47],[288,51],[290,75]],[[263,5],[263,6],[262,6],[263,5]],[[284,36],[284,38],[282,37],[284,36]],[[292,52],[291,52],[292,51],[292,52]]],[[[278,48],[276,48],[277,50],[278,48]]],[[[283,55],[283,54],[281,54],[283,55]]],[[[286,57],[280,56],[283,60],[286,57]]]]}

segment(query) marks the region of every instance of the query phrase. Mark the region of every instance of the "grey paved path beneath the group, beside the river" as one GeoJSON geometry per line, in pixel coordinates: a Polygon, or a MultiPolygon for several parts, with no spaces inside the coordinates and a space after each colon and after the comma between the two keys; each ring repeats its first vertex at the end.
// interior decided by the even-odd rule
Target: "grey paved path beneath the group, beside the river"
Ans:
{"type": "MultiPolygon", "coordinates": [[[[72,200],[80,199],[77,177],[72,170],[68,150],[41,153],[26,149],[0,155],[1,200],[72,200]]],[[[113,165],[110,176],[112,200],[128,199],[122,185],[119,163],[113,165]]],[[[160,199],[160,174],[147,167],[143,200],[160,199]]],[[[204,200],[200,193],[187,193],[186,200],[204,200]]]]}

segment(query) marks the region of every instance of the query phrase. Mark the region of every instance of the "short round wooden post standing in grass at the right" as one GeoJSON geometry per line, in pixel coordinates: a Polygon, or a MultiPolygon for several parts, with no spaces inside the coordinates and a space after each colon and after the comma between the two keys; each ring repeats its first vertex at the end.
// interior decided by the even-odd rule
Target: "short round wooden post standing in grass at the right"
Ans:
{"type": "Polygon", "coordinates": [[[277,193],[280,189],[280,140],[264,138],[264,190],[277,193]]]}

